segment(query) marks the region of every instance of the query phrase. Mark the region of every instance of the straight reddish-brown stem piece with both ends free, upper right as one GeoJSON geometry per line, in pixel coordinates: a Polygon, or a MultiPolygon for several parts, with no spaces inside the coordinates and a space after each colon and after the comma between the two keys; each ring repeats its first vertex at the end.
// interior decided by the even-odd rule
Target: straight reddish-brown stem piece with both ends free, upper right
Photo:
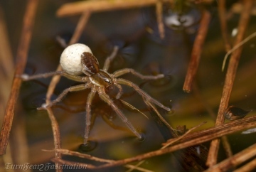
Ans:
{"type": "Polygon", "coordinates": [[[183,91],[191,92],[191,87],[193,80],[196,76],[198,70],[198,65],[201,58],[201,52],[203,49],[203,43],[206,38],[206,33],[208,31],[208,23],[210,22],[210,13],[208,11],[203,11],[202,19],[200,22],[199,30],[196,36],[196,40],[193,43],[193,49],[191,53],[191,60],[188,63],[188,70],[186,73],[185,82],[183,85],[183,91]]]}

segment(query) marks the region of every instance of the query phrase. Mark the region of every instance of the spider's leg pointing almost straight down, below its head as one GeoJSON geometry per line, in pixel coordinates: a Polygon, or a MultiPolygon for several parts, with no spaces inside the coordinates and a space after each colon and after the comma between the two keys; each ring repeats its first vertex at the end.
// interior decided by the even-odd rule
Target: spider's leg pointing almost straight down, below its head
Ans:
{"type": "Polygon", "coordinates": [[[91,104],[92,99],[95,96],[96,89],[92,87],[91,92],[89,93],[87,97],[86,102],[86,116],[85,116],[85,136],[84,136],[84,144],[87,144],[88,138],[89,138],[89,132],[90,132],[90,124],[91,124],[91,104]]]}

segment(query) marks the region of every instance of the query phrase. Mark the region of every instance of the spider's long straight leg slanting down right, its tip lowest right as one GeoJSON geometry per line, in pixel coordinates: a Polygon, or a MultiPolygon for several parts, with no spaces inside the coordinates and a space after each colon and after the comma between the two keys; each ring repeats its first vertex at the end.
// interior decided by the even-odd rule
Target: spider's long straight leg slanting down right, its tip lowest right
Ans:
{"type": "Polygon", "coordinates": [[[142,139],[141,134],[134,128],[131,122],[128,121],[127,117],[124,116],[124,114],[121,112],[121,110],[117,107],[116,104],[110,99],[110,97],[105,93],[105,90],[103,89],[98,89],[97,90],[99,93],[100,98],[105,101],[107,104],[109,104],[114,112],[116,112],[119,117],[122,119],[122,121],[127,125],[127,127],[139,138],[142,139]]]}

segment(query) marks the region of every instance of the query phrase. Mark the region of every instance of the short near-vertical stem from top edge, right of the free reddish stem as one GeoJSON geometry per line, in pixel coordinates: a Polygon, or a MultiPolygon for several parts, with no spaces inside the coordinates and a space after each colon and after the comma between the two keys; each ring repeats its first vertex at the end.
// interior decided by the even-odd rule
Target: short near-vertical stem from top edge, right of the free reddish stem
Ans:
{"type": "Polygon", "coordinates": [[[228,39],[228,28],[226,22],[225,0],[218,1],[218,14],[220,18],[220,28],[225,43],[225,50],[228,52],[231,49],[230,41],[228,39]]]}

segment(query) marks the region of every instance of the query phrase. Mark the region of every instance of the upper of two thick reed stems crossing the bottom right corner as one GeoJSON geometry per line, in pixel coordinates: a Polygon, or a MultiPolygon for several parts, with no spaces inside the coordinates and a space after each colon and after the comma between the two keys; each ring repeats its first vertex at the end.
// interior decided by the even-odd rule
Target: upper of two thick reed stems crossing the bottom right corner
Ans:
{"type": "MultiPolygon", "coordinates": [[[[256,151],[255,150],[256,150],[256,144],[253,144],[252,146],[248,147],[247,149],[244,149],[244,150],[240,151],[238,154],[235,154],[234,156],[225,159],[224,161],[216,164],[215,166],[212,166],[211,168],[208,168],[208,170],[206,170],[205,172],[228,171],[232,168],[235,168],[235,166],[238,166],[239,164],[241,164],[241,163],[247,161],[248,159],[256,156],[256,151]]],[[[249,163],[250,166],[254,161],[251,161],[249,163]]],[[[252,167],[255,167],[255,163],[252,165],[252,167]]]]}

